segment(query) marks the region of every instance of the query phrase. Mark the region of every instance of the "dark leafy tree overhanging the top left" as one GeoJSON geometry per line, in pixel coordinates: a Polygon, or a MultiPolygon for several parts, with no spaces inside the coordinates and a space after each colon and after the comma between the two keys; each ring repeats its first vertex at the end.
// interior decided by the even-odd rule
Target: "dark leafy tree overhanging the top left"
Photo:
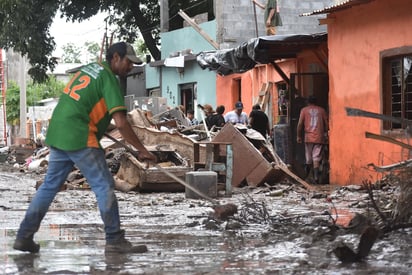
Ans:
{"type": "MultiPolygon", "coordinates": [[[[169,18],[178,18],[179,9],[188,11],[189,16],[199,14],[205,8],[204,3],[209,14],[213,0],[169,0],[169,7],[173,8],[169,18]]],[[[133,43],[141,35],[151,56],[155,60],[161,57],[158,0],[1,0],[0,48],[27,54],[32,66],[29,74],[35,81],[47,79],[47,69],[53,70],[57,63],[52,57],[56,45],[49,29],[58,10],[72,22],[107,12],[107,22],[117,26],[117,39],[133,43]]]]}

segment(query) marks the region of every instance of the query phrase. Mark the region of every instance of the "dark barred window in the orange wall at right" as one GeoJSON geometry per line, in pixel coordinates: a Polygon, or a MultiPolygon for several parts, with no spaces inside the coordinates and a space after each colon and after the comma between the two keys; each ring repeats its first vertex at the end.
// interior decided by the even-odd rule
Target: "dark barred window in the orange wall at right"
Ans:
{"type": "Polygon", "coordinates": [[[383,114],[399,119],[399,121],[384,121],[384,130],[405,129],[406,123],[403,120],[412,120],[411,67],[412,47],[383,53],[383,114]]]}

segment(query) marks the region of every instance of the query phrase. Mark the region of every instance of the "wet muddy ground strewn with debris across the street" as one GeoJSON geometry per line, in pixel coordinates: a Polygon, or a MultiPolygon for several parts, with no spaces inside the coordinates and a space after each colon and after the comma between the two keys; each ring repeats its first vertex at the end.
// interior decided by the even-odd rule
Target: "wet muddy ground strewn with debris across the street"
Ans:
{"type": "MultiPolygon", "coordinates": [[[[36,180],[43,175],[5,167],[1,171],[1,274],[410,274],[412,270],[411,229],[380,236],[361,262],[342,263],[332,252],[342,242],[356,248],[359,232],[332,230],[336,228],[332,218],[347,224],[354,213],[366,213],[365,191],[322,186],[308,192],[287,180],[219,197],[222,204],[239,207],[239,213],[224,222],[210,217],[210,203],[186,199],[183,192],[117,192],[128,239],[146,244],[149,251],[108,258],[94,194],[87,189],[62,191],[35,235],[40,253],[22,253],[13,250],[13,241],[36,180]]],[[[396,186],[376,190],[377,196],[395,192],[396,186]]],[[[393,202],[383,203],[390,208],[393,202]]]]}

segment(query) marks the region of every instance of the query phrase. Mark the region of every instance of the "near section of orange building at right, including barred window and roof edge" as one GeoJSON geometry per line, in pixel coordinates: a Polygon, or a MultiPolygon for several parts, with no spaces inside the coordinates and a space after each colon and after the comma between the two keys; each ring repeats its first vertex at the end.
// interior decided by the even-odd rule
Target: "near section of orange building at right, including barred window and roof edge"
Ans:
{"type": "Polygon", "coordinates": [[[411,0],[353,0],[312,14],[326,14],[329,48],[330,182],[376,181],[369,163],[409,159],[409,150],[366,138],[403,140],[405,123],[348,116],[345,107],[412,119],[411,0]]]}

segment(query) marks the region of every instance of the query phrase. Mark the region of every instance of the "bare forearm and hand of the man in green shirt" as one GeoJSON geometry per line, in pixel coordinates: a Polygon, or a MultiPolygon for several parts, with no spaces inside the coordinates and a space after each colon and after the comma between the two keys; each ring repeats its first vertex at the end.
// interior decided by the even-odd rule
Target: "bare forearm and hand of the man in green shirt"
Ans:
{"type": "Polygon", "coordinates": [[[139,151],[139,160],[140,161],[151,161],[156,162],[156,156],[150,153],[146,147],[142,144],[142,142],[137,137],[136,133],[133,131],[132,126],[130,125],[129,121],[127,120],[126,113],[119,111],[115,112],[112,115],[114,122],[116,124],[117,129],[119,129],[120,134],[122,137],[133,147],[135,147],[139,151]]]}

